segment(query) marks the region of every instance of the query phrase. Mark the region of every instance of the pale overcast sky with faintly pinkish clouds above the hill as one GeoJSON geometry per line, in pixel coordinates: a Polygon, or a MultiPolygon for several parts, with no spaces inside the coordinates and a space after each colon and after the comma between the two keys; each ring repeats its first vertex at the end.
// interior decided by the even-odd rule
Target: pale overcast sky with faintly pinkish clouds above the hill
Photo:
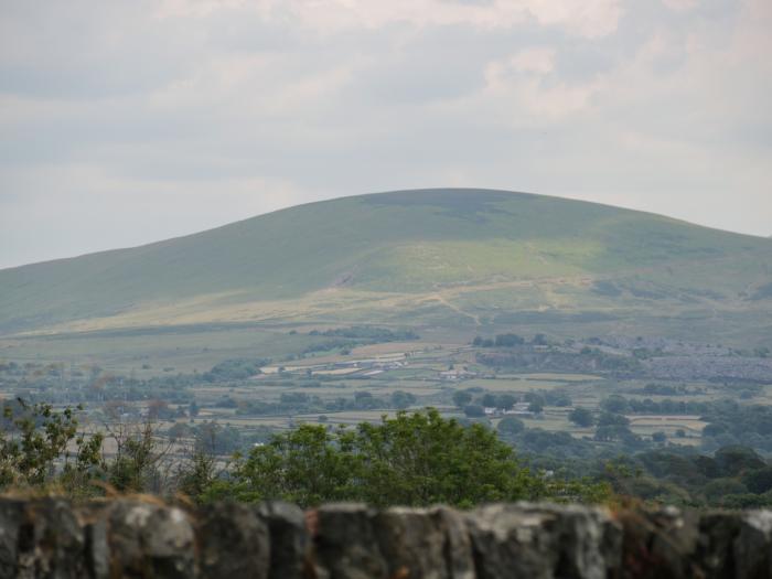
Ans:
{"type": "Polygon", "coordinates": [[[0,268],[526,191],[772,235],[770,0],[0,0],[0,268]]]}

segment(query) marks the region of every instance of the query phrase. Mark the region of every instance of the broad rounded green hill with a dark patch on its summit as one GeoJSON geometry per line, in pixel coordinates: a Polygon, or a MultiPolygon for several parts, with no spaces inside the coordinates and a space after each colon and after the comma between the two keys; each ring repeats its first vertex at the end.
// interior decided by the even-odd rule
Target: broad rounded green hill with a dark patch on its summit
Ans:
{"type": "Polygon", "coordinates": [[[640,317],[668,331],[701,314],[763,333],[771,282],[766,238],[525,193],[397,191],[0,270],[0,335],[269,321],[621,330],[640,317]]]}

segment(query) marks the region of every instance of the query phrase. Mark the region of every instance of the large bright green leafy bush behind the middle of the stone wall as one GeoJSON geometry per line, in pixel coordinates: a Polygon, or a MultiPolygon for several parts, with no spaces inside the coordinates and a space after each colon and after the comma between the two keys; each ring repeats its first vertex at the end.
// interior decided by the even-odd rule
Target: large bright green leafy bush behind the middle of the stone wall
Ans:
{"type": "Polygon", "coordinates": [[[437,410],[398,412],[378,425],[332,431],[303,425],[240,459],[223,492],[242,501],[301,505],[355,500],[374,505],[471,506],[490,501],[577,497],[602,490],[530,473],[481,425],[463,427],[437,410]],[[581,491],[581,492],[580,492],[581,491]]]}

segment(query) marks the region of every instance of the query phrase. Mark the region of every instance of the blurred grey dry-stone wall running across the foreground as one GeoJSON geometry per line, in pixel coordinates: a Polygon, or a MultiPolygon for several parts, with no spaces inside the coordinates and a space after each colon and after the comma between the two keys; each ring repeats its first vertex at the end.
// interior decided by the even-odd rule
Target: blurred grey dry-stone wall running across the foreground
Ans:
{"type": "Polygon", "coordinates": [[[0,578],[772,578],[772,512],[0,498],[0,578]]]}

